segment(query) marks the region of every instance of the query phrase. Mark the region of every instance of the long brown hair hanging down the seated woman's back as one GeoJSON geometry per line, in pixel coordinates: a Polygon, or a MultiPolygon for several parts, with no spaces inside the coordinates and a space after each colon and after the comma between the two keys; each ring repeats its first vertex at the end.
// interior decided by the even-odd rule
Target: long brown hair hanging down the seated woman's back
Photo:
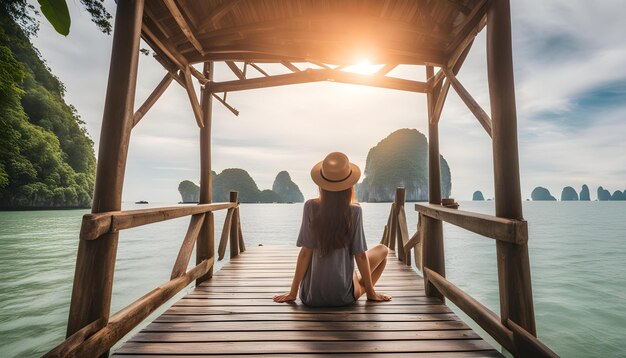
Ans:
{"type": "Polygon", "coordinates": [[[346,247],[354,233],[352,210],[354,187],[342,191],[320,188],[320,205],[313,213],[311,228],[319,253],[324,256],[334,249],[346,247]]]}

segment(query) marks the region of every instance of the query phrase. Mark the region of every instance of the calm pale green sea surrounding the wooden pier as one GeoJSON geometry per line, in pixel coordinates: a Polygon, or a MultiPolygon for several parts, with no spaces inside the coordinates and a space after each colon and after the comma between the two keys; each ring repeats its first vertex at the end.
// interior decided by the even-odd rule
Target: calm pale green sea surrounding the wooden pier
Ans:
{"type": "MultiPolygon", "coordinates": [[[[368,242],[378,243],[390,206],[362,206],[368,242]]],[[[461,208],[494,211],[492,202],[462,202],[461,208]]],[[[64,338],[86,212],[0,212],[0,357],[39,356],[64,338]]],[[[246,245],[294,245],[301,215],[302,204],[242,205],[246,245]]],[[[524,216],[539,337],[563,357],[626,355],[626,203],[525,202],[524,216]]],[[[407,217],[412,235],[417,215],[408,211],[407,217]]],[[[216,214],[218,235],[223,219],[223,212],[216,214]]],[[[188,220],[120,235],[113,311],[169,279],[188,220]]],[[[495,242],[444,228],[448,279],[499,312],[495,242]]]]}

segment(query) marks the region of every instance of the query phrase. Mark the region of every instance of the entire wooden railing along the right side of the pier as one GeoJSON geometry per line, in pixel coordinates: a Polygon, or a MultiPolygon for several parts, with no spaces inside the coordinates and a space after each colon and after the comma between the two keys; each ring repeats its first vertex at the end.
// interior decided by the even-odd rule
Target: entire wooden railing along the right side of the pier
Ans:
{"type": "Polygon", "coordinates": [[[510,319],[502,320],[497,314],[483,306],[472,296],[456,287],[443,275],[424,265],[423,245],[428,240],[428,220],[440,220],[456,225],[482,236],[513,245],[525,245],[528,242],[528,226],[524,220],[512,220],[491,215],[447,208],[437,204],[415,204],[418,211],[416,233],[409,238],[404,211],[404,188],[396,189],[396,197],[391,204],[391,212],[383,231],[381,243],[395,250],[398,259],[411,265],[411,250],[415,265],[422,270],[424,279],[432,284],[438,293],[465,312],[485,332],[516,357],[558,357],[537,337],[510,319]]]}

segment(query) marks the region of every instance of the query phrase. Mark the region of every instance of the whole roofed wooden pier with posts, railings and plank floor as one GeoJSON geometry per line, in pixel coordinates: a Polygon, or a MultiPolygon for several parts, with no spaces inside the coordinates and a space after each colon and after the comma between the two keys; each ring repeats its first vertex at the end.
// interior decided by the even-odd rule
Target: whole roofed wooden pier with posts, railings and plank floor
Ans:
{"type": "MultiPolygon", "coordinates": [[[[499,355],[450,312],[444,304],[448,299],[513,355],[556,356],[536,337],[528,229],[520,194],[509,0],[116,3],[92,213],[85,215],[81,227],[66,340],[46,356],[106,357],[116,342],[194,281],[197,288],[192,293],[115,354],[499,355]],[[457,77],[483,28],[487,29],[490,114],[457,77]],[[163,66],[164,77],[136,106],[142,40],[163,66]],[[345,71],[363,53],[381,65],[380,70],[371,75],[345,71]],[[227,69],[231,79],[215,76],[216,63],[227,69]],[[202,71],[196,68],[199,65],[202,71]],[[423,71],[425,80],[416,80],[413,74],[417,72],[406,78],[394,76],[399,66],[423,71]],[[298,302],[275,304],[270,297],[289,287],[294,249],[246,251],[237,193],[231,193],[230,202],[213,202],[214,100],[238,115],[231,102],[237,97],[227,97],[229,93],[319,81],[426,95],[429,203],[415,205],[419,224],[410,235],[404,189],[399,189],[381,240],[396,253],[379,284],[381,291],[395,296],[392,302],[362,300],[353,307],[335,309],[305,308],[298,302]],[[198,126],[200,204],[123,211],[131,135],[141,129],[141,121],[147,120],[146,114],[171,83],[187,93],[198,126]],[[485,140],[491,141],[495,216],[442,205],[439,121],[450,88],[484,128],[485,140]],[[213,214],[218,210],[228,212],[216,248],[213,214]],[[189,228],[170,280],[112,313],[117,247],[123,239],[120,231],[183,216],[191,216],[189,228]],[[494,240],[499,314],[446,279],[443,222],[494,240]],[[227,245],[232,261],[213,275],[213,266],[225,256],[227,245]],[[195,266],[187,270],[194,246],[195,266]],[[411,260],[423,279],[409,268],[411,260]]],[[[367,125],[367,120],[359,125],[367,125]]]]}

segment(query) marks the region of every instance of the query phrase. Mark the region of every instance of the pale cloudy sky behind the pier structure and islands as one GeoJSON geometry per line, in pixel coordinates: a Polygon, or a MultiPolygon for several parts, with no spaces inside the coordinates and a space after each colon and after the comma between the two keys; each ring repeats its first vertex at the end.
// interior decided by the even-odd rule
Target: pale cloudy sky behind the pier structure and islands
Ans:
{"type": "MultiPolygon", "coordinates": [[[[114,2],[106,3],[114,15],[114,2]]],[[[32,40],[97,151],[112,36],[99,32],[77,1],[68,5],[67,38],[42,19],[32,40]]],[[[564,186],[579,191],[587,184],[592,200],[600,185],[626,189],[626,0],[512,0],[511,8],[522,197],[536,186],[558,198],[564,186]]],[[[389,75],[424,80],[423,72],[406,66],[389,75]]],[[[156,60],[140,56],[135,108],[164,74],[156,60]]],[[[485,31],[458,78],[490,113],[485,31]]],[[[215,80],[229,79],[234,75],[218,63],[215,80]]],[[[228,101],[240,115],[214,102],[213,169],[246,169],[261,190],[287,170],[305,198],[317,195],[310,168],[329,152],[343,151],[365,169],[368,150],[391,132],[427,133],[426,95],[418,93],[311,83],[230,93],[228,101]]],[[[469,200],[481,190],[492,198],[491,141],[452,89],[439,126],[451,196],[469,200]]],[[[185,91],[173,83],[133,130],[123,200],[179,201],[178,183],[199,181],[199,160],[199,129],[185,91]]]]}

